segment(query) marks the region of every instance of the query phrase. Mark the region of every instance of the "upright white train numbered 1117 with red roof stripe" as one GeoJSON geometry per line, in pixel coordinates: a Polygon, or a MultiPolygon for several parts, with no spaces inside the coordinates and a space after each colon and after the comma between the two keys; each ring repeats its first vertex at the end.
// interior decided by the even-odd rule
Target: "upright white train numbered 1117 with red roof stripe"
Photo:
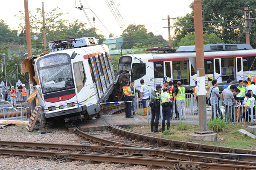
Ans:
{"type": "MultiPolygon", "coordinates": [[[[181,81],[191,91],[197,80],[195,46],[180,46],[177,51],[169,48],[151,48],[153,53],[124,55],[119,58],[118,70],[128,70],[131,81],[139,88],[144,79],[150,89],[163,80],[181,81]],[[170,52],[172,51],[172,52],[170,52]],[[163,53],[160,53],[163,52],[163,53]]],[[[240,79],[256,76],[256,49],[249,44],[204,45],[205,80],[211,75],[223,89],[227,79],[238,84],[240,79]]]]}

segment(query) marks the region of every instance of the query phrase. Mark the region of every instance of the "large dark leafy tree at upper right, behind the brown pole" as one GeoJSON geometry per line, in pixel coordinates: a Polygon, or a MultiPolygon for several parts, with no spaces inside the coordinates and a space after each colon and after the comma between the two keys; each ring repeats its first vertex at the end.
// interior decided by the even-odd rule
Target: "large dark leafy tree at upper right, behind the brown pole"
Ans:
{"type": "MultiPolygon", "coordinates": [[[[224,43],[234,43],[244,31],[244,7],[256,9],[255,0],[202,0],[203,31],[210,34],[215,33],[224,43]]],[[[193,3],[190,4],[193,10],[193,3]]],[[[251,18],[256,14],[251,13],[251,18]]],[[[255,23],[251,23],[250,43],[256,47],[255,23]]],[[[182,37],[194,32],[193,11],[183,17],[177,17],[175,22],[174,43],[177,45],[182,37]]],[[[245,34],[241,35],[236,43],[245,43],[245,34]]]]}

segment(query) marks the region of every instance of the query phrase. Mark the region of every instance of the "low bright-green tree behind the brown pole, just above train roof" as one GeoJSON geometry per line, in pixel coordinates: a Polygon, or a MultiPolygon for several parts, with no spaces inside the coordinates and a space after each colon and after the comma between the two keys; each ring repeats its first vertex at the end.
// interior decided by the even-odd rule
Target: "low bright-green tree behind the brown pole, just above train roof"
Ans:
{"type": "MultiPolygon", "coordinates": [[[[217,35],[212,34],[204,34],[204,45],[206,44],[218,44],[224,43],[217,35]]],[[[189,33],[185,37],[180,39],[178,46],[192,46],[195,45],[195,34],[189,33]]]]}

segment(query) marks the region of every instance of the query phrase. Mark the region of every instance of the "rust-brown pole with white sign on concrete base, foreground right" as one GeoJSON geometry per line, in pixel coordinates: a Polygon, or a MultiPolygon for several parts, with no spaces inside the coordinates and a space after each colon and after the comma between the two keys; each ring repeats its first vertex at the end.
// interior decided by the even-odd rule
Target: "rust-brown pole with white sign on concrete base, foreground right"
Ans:
{"type": "Polygon", "coordinates": [[[198,81],[198,112],[199,130],[190,134],[190,138],[196,141],[215,141],[217,134],[207,129],[206,115],[206,89],[204,78],[204,41],[203,41],[203,20],[201,0],[194,0],[194,20],[195,20],[195,55],[196,73],[198,81]]]}

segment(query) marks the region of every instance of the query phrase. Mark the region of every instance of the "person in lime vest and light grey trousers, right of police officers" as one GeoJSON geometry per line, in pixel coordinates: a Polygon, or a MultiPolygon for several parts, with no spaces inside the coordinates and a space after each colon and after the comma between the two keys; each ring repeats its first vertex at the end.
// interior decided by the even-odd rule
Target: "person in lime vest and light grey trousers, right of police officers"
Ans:
{"type": "Polygon", "coordinates": [[[177,102],[177,111],[181,116],[181,119],[186,119],[186,110],[185,110],[185,87],[181,86],[181,82],[177,82],[177,89],[175,90],[176,101],[177,102]]]}

